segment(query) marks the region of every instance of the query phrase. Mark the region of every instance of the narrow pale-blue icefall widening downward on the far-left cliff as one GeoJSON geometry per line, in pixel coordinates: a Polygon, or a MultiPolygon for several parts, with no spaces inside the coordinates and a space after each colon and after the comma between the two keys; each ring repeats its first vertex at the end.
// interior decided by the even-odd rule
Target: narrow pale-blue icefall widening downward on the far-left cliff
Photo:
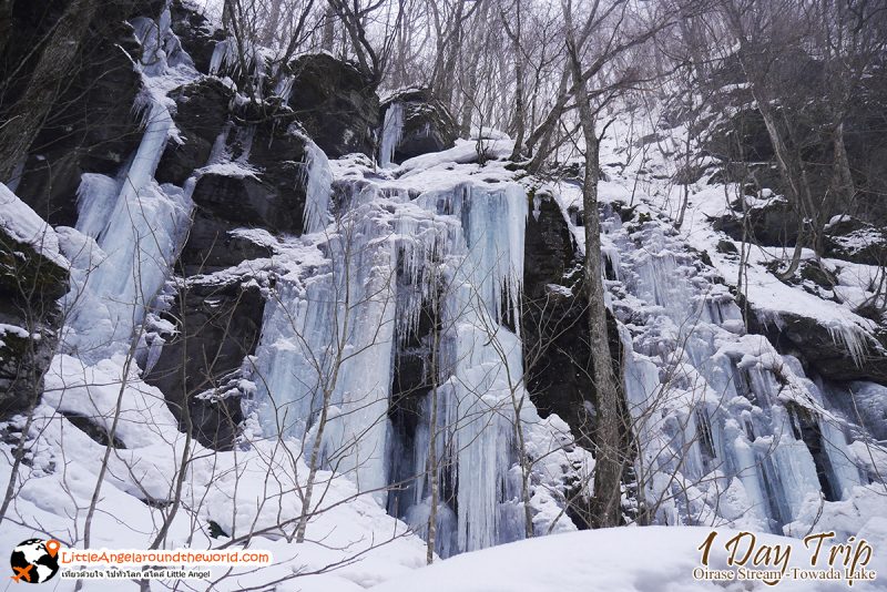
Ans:
{"type": "MultiPolygon", "coordinates": [[[[144,22],[142,22],[144,21],[144,22]]],[[[180,187],[154,181],[167,139],[175,127],[159,90],[165,74],[167,11],[160,23],[137,23],[145,48],[144,133],[130,163],[113,180],[83,175],[78,192],[77,228],[102,251],[101,262],[85,271],[85,280],[69,298],[71,316],[65,344],[85,359],[99,359],[126,347],[184,238],[191,198],[180,187]],[[150,62],[149,62],[150,60],[150,62]]]]}

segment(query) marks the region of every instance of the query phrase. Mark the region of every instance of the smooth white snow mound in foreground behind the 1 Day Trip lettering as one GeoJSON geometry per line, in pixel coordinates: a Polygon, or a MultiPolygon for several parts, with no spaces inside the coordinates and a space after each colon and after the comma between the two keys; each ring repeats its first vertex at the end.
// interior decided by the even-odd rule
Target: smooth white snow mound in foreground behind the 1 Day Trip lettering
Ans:
{"type": "MultiPolygon", "coordinates": [[[[606,590],[612,592],[683,592],[687,590],[778,590],[825,592],[846,590],[885,590],[884,582],[856,581],[850,589],[847,581],[817,581],[792,579],[792,568],[828,570],[827,560],[819,557],[816,568],[810,567],[815,545],[805,548],[797,539],[772,534],[755,534],[754,549],[779,545],[791,548],[787,562],[789,576],[775,586],[752,579],[740,580],[741,564],[727,564],[730,553],[724,544],[738,531],[721,530],[712,544],[708,570],[724,570],[734,580],[700,580],[694,570],[702,567],[700,547],[712,530],[692,527],[620,528],[557,534],[519,541],[485,549],[441,561],[407,575],[395,578],[373,588],[373,592],[583,592],[606,590]]],[[[883,573],[887,569],[887,522],[873,524],[860,538],[873,545],[875,554],[869,570],[883,573]]],[[[736,560],[742,560],[750,547],[745,537],[737,544],[736,560]]],[[[823,553],[825,554],[825,547],[823,553]]],[[[754,555],[753,555],[754,557],[754,555]]],[[[775,554],[772,557],[775,558],[775,554]]],[[[779,570],[771,562],[748,570],[779,570]]]]}

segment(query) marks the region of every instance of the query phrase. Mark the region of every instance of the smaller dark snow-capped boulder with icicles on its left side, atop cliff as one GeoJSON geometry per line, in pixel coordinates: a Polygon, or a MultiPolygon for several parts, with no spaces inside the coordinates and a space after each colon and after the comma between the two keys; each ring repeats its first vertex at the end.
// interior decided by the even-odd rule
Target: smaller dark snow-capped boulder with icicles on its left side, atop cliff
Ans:
{"type": "Polygon", "coordinates": [[[430,91],[416,90],[392,96],[381,105],[379,121],[385,121],[386,113],[395,104],[402,110],[404,126],[391,162],[399,164],[407,159],[440,152],[456,144],[459,136],[456,120],[430,91]]]}

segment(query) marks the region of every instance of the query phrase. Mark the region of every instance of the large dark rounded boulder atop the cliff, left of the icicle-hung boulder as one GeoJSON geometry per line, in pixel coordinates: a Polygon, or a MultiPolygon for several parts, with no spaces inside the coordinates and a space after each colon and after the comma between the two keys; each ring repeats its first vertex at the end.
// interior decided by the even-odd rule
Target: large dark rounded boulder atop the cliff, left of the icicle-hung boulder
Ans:
{"type": "Polygon", "coordinates": [[[371,80],[353,64],[325,53],[290,65],[295,80],[289,106],[307,134],[330,159],[376,153],[379,98],[371,80]]]}

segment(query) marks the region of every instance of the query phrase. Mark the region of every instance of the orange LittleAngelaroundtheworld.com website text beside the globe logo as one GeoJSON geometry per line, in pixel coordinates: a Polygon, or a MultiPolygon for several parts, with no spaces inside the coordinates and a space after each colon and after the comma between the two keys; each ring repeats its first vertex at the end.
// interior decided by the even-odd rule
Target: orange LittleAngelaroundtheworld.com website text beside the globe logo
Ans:
{"type": "Polygon", "coordinates": [[[60,565],[271,565],[269,551],[61,549],[60,565]]]}

